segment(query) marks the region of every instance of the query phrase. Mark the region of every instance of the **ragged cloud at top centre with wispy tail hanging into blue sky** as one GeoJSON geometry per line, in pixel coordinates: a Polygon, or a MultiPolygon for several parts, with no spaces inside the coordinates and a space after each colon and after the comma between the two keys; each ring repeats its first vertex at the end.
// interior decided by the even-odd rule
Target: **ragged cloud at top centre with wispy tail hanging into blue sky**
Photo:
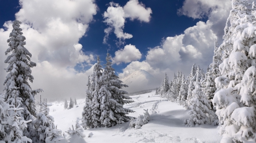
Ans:
{"type": "Polygon", "coordinates": [[[108,28],[104,29],[105,37],[103,43],[108,41],[109,34],[114,31],[115,36],[119,39],[118,44],[124,44],[123,40],[132,38],[133,35],[123,32],[125,28],[125,19],[131,20],[138,19],[141,22],[149,22],[150,14],[152,14],[151,8],[145,8],[138,0],[130,0],[124,7],[119,6],[118,3],[110,2],[108,9],[104,12],[104,23],[108,25],[108,28]]]}

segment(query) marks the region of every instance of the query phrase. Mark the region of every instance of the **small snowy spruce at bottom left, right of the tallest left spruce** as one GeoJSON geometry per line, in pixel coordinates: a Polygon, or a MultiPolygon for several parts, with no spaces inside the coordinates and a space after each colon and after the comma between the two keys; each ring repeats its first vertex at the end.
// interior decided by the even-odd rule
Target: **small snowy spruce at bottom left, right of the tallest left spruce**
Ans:
{"type": "Polygon", "coordinates": [[[42,111],[33,120],[35,136],[32,138],[33,142],[45,142],[49,132],[55,129],[54,118],[49,115],[49,106],[51,103],[47,103],[47,100],[42,103],[42,111]]]}

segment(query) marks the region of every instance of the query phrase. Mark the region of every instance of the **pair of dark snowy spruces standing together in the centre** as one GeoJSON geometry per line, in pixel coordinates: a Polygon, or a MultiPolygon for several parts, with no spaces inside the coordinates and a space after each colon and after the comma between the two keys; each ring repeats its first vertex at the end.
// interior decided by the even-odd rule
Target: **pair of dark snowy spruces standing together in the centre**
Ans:
{"type": "Polygon", "coordinates": [[[127,85],[122,84],[115,75],[110,54],[107,54],[105,68],[102,69],[100,58],[94,65],[93,75],[88,77],[86,102],[82,112],[82,127],[98,128],[112,127],[116,124],[130,120],[130,109],[123,108],[126,103],[132,103],[131,97],[125,96],[126,91],[121,90],[127,85]]]}

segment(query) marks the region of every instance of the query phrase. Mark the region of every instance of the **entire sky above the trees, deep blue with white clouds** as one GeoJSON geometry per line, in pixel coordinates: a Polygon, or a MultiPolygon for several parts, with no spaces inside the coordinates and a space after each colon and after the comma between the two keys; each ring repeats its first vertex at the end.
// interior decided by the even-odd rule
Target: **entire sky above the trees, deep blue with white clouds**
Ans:
{"type": "MultiPolygon", "coordinates": [[[[96,56],[104,64],[107,50],[120,77],[142,69],[155,76],[158,85],[164,72],[172,78],[181,70],[187,76],[193,63],[206,68],[212,62],[214,39],[221,43],[230,8],[229,0],[1,1],[0,68],[7,66],[3,53],[12,29],[9,20],[16,15],[32,61],[38,64],[32,69],[32,88],[47,89],[44,94],[84,94],[96,56]],[[111,8],[121,12],[111,13],[111,8]],[[112,31],[104,44],[108,28],[112,31]],[[117,38],[116,29],[132,37],[117,38]]],[[[3,81],[6,73],[0,73],[3,81]]]]}

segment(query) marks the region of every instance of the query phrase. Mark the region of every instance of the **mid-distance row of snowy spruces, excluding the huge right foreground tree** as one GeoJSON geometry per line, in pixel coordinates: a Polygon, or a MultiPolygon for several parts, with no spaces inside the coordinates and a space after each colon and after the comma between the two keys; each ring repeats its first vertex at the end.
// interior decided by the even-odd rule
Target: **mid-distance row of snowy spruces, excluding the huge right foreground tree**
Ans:
{"type": "MultiPolygon", "coordinates": [[[[216,51],[218,48],[215,41],[216,51]]],[[[186,109],[191,110],[189,114],[191,118],[186,119],[184,123],[188,126],[197,124],[218,124],[217,116],[214,113],[212,101],[216,87],[214,79],[220,76],[218,65],[220,64],[220,56],[215,53],[213,63],[207,68],[204,73],[200,66],[193,64],[189,76],[185,79],[184,74],[179,71],[177,75],[174,73],[174,79],[168,81],[167,74],[159,88],[156,88],[156,94],[160,94],[162,98],[167,98],[169,101],[178,102],[186,109]]]]}

